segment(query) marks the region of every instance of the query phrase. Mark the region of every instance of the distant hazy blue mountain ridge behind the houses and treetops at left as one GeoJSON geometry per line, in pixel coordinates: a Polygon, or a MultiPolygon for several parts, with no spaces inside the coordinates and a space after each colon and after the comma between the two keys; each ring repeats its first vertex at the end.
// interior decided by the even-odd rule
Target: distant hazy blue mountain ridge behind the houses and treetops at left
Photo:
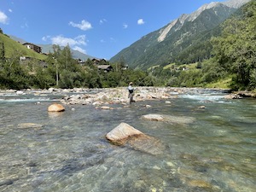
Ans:
{"type": "MultiPolygon", "coordinates": [[[[24,39],[17,38],[17,37],[12,36],[12,35],[10,35],[9,37],[12,38],[13,40],[15,40],[16,42],[19,42],[20,44],[25,44],[26,43],[26,41],[24,39]]],[[[29,43],[32,43],[32,42],[29,42],[29,43]]],[[[49,52],[53,52],[52,44],[37,44],[37,45],[42,48],[42,53],[48,54],[49,52]]],[[[64,47],[61,46],[61,49],[63,49],[63,48],[64,47]]],[[[86,61],[88,58],[89,59],[96,58],[96,57],[81,53],[78,50],[71,49],[71,51],[73,53],[73,58],[74,59],[80,59],[80,60],[86,61]]]]}

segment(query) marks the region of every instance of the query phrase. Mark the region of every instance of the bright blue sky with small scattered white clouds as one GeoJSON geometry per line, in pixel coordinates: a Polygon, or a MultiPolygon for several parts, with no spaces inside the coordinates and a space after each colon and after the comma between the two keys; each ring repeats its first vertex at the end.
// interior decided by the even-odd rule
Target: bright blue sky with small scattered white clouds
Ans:
{"type": "MultiPolygon", "coordinates": [[[[224,0],[217,0],[224,2],[224,0]]],[[[212,0],[0,0],[3,33],[109,60],[212,0]]]]}

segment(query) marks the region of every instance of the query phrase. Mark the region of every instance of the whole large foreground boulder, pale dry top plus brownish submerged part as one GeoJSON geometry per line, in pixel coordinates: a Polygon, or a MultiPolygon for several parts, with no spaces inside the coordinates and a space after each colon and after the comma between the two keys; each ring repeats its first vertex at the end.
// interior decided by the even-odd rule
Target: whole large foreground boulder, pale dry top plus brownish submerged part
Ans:
{"type": "Polygon", "coordinates": [[[147,154],[163,154],[165,149],[159,139],[149,137],[126,123],[116,126],[106,137],[113,144],[124,145],[147,154]]]}

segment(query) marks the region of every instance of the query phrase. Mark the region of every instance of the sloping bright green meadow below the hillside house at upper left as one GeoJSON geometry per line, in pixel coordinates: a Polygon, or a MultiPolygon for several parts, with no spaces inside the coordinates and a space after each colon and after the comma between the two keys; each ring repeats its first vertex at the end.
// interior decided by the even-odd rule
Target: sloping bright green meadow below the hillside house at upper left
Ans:
{"type": "Polygon", "coordinates": [[[47,58],[46,55],[38,54],[32,49],[26,49],[24,45],[16,42],[15,40],[2,33],[0,33],[0,43],[3,43],[4,45],[4,54],[6,58],[11,58],[17,54],[20,56],[28,56],[39,60],[45,60],[47,58]]]}

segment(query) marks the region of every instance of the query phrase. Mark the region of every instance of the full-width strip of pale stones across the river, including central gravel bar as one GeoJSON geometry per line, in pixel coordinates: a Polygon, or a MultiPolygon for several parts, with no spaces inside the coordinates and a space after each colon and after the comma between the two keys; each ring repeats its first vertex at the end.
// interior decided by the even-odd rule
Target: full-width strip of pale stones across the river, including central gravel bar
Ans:
{"type": "MultiPolygon", "coordinates": [[[[137,87],[134,93],[134,100],[137,102],[148,100],[167,100],[177,98],[183,94],[200,94],[205,92],[221,91],[226,93],[225,99],[241,99],[244,97],[254,97],[256,94],[249,91],[232,92],[230,90],[220,89],[202,89],[202,88],[174,88],[174,87],[137,87]]],[[[48,90],[0,90],[0,96],[5,95],[34,95],[47,96],[56,95],[62,96],[60,102],[64,105],[104,105],[104,104],[128,104],[128,91],[126,87],[106,88],[106,89],[88,89],[88,88],[73,88],[73,89],[56,89],[49,88],[48,90]]],[[[60,98],[60,97],[59,97],[60,98]]]]}

